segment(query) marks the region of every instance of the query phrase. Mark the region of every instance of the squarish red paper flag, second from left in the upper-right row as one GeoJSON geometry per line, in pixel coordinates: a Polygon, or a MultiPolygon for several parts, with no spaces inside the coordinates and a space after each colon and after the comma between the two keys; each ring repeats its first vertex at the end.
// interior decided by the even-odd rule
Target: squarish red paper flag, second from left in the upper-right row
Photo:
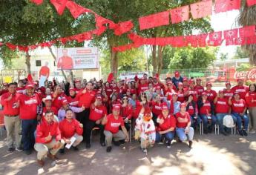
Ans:
{"type": "Polygon", "coordinates": [[[179,22],[185,22],[189,19],[189,10],[188,5],[183,7],[178,7],[173,10],[170,10],[171,12],[171,23],[176,24],[179,22]]]}

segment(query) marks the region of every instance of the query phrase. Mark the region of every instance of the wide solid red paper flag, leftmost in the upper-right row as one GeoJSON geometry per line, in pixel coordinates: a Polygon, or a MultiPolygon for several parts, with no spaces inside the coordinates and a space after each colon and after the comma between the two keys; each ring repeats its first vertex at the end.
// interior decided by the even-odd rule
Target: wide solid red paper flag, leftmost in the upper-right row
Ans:
{"type": "Polygon", "coordinates": [[[168,11],[155,13],[149,16],[142,16],[139,18],[140,30],[168,25],[169,20],[168,11]]]}

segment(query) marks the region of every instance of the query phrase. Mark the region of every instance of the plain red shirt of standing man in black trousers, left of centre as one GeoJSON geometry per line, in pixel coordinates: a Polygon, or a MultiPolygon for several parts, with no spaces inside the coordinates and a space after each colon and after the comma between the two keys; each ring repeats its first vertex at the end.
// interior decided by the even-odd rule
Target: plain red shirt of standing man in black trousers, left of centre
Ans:
{"type": "Polygon", "coordinates": [[[91,104],[95,101],[96,93],[91,90],[90,92],[87,90],[86,93],[77,94],[79,97],[78,106],[82,107],[84,105],[85,108],[90,108],[91,104]]]}

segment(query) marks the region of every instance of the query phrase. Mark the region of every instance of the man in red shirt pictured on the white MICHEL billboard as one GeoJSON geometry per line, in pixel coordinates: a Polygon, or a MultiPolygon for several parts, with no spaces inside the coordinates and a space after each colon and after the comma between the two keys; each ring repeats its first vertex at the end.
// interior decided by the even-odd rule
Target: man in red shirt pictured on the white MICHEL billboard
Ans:
{"type": "Polygon", "coordinates": [[[68,49],[62,50],[63,56],[59,58],[57,67],[62,70],[73,69],[73,59],[68,56],[68,49]]]}

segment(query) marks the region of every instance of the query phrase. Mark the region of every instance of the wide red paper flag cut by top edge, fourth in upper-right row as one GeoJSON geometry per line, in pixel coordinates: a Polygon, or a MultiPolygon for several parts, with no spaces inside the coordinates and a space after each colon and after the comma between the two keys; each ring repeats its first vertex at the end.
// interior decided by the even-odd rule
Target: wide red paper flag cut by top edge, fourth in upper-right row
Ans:
{"type": "Polygon", "coordinates": [[[241,0],[216,0],[215,13],[226,12],[230,10],[239,10],[241,0]]]}

